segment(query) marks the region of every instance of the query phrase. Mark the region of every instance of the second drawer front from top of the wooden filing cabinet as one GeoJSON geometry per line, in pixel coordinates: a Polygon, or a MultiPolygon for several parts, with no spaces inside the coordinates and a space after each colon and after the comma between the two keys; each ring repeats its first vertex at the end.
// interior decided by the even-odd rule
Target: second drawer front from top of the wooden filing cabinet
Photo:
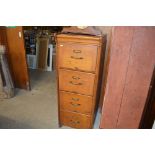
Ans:
{"type": "Polygon", "coordinates": [[[95,75],[78,71],[59,70],[59,89],[93,95],[95,75]]]}

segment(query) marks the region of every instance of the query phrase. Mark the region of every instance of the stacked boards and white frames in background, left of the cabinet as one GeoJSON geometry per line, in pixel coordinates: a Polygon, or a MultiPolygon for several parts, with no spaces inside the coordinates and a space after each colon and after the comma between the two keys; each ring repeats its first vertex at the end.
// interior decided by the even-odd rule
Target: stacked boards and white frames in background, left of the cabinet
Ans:
{"type": "Polygon", "coordinates": [[[52,71],[53,45],[50,43],[50,35],[39,34],[36,30],[24,30],[25,48],[28,67],[52,71]]]}

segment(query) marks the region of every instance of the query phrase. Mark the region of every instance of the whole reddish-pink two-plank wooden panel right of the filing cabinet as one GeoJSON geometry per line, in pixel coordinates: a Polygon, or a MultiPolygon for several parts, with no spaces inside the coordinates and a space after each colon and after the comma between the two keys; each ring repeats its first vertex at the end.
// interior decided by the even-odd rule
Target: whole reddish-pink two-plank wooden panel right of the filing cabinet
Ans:
{"type": "Polygon", "coordinates": [[[100,128],[139,128],[155,65],[154,27],[113,29],[100,128]]]}

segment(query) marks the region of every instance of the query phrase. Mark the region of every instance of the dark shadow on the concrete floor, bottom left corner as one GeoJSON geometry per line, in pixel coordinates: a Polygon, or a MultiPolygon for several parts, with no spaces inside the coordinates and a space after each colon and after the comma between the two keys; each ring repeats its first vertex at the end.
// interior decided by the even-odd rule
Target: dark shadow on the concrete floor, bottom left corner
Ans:
{"type": "Polygon", "coordinates": [[[32,127],[7,117],[0,116],[0,129],[32,129],[32,127]]]}

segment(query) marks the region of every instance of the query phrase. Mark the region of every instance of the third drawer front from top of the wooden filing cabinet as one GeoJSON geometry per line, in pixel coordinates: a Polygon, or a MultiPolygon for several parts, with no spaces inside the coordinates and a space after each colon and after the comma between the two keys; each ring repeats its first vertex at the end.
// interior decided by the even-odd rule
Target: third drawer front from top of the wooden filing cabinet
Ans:
{"type": "Polygon", "coordinates": [[[60,108],[62,110],[91,114],[92,97],[60,91],[60,108]]]}

